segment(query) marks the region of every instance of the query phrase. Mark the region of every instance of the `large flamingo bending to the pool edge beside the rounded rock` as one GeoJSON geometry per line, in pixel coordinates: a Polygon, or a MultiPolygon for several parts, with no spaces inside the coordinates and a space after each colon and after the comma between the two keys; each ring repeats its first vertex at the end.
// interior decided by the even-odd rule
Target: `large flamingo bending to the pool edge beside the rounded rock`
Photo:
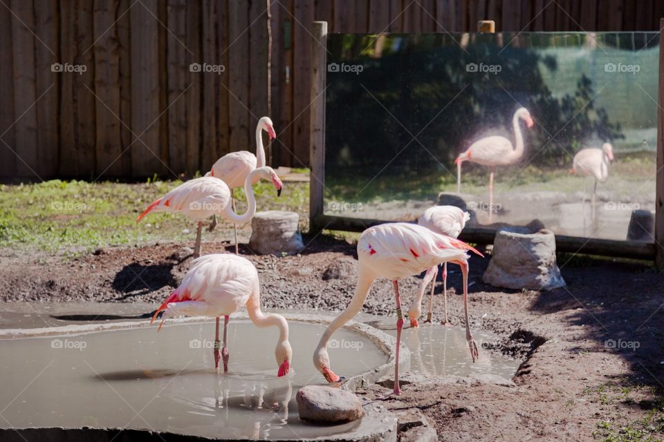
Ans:
{"type": "MultiPolygon", "coordinates": [[[[468,255],[473,251],[481,256],[465,242],[448,236],[439,235],[426,227],[405,222],[391,222],[365,230],[358,240],[358,285],[346,310],[337,316],[320,338],[313,353],[313,365],[330,383],[340,381],[330,368],[327,344],[332,334],[355,316],[367,299],[369,289],[376,278],[389,278],[394,286],[396,298],[396,360],[394,367],[394,394],[400,394],[399,388],[399,347],[403,314],[399,296],[400,278],[413,276],[442,262],[454,262],[461,266],[463,273],[463,303],[468,305],[468,255]]],[[[468,340],[472,361],[478,357],[477,343],[470,333],[468,309],[465,316],[465,338],[468,340]]]]}

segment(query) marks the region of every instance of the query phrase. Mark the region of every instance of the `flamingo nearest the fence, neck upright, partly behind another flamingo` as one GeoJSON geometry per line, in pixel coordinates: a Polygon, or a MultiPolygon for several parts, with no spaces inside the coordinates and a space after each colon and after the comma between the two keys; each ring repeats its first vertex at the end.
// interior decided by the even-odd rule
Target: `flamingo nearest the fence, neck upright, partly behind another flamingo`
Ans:
{"type": "MultiPolygon", "coordinates": [[[[219,178],[230,187],[232,209],[235,210],[235,198],[232,191],[237,187],[242,187],[247,179],[247,175],[259,167],[265,167],[265,148],[263,147],[263,131],[268,133],[270,140],[277,137],[275,128],[272,124],[270,117],[262,117],[258,120],[256,126],[256,155],[249,151],[231,152],[223,155],[223,157],[216,160],[212,165],[210,172],[205,176],[212,176],[219,178]]],[[[255,183],[252,183],[255,184],[255,183]]],[[[210,224],[209,231],[214,230],[216,227],[216,215],[212,215],[212,224],[210,224]]],[[[237,224],[233,224],[235,233],[235,254],[237,255],[237,224]]]]}

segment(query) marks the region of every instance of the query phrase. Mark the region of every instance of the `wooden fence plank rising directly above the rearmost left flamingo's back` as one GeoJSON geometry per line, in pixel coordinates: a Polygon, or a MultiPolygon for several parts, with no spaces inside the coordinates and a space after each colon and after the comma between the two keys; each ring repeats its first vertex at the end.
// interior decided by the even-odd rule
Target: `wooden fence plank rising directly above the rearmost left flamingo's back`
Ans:
{"type": "MultiPolygon", "coordinates": [[[[246,151],[249,144],[249,68],[246,62],[249,52],[249,11],[239,2],[228,2],[228,39],[234,44],[228,49],[228,83],[232,95],[228,98],[230,148],[246,151]],[[244,32],[244,33],[243,33],[244,32]]],[[[253,62],[253,61],[252,61],[253,62]]]]}

